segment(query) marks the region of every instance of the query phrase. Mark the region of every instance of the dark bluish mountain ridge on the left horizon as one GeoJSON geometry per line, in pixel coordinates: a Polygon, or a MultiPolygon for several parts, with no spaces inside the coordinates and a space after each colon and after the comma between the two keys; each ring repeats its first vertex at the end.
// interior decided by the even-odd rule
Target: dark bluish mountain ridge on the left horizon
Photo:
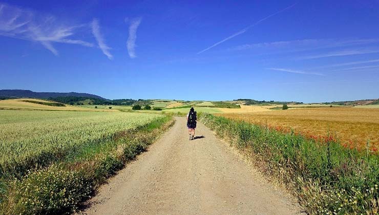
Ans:
{"type": "Polygon", "coordinates": [[[33,92],[30,90],[0,90],[0,96],[17,97],[17,98],[40,98],[40,99],[73,96],[73,97],[88,97],[88,98],[97,98],[97,99],[107,100],[106,98],[103,98],[101,96],[97,96],[97,95],[93,95],[89,93],[33,92]]]}

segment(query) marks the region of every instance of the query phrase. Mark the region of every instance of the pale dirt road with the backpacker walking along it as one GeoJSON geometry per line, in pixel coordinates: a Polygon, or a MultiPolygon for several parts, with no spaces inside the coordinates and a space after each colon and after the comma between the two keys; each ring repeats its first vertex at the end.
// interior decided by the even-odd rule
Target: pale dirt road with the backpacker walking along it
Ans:
{"type": "Polygon", "coordinates": [[[300,214],[229,145],[185,119],[103,185],[81,214],[300,214]]]}

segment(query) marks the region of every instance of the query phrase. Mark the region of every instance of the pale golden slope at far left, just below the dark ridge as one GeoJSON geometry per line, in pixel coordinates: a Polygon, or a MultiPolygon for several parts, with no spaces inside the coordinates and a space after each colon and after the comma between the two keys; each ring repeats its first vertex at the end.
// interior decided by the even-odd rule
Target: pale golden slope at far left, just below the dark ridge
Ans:
{"type": "Polygon", "coordinates": [[[66,106],[49,106],[44,104],[36,104],[31,102],[25,102],[23,100],[32,100],[32,101],[41,101],[46,102],[45,100],[40,99],[7,99],[0,101],[0,109],[10,109],[10,110],[49,110],[49,111],[110,111],[110,110],[98,110],[98,109],[89,109],[86,107],[78,107],[72,105],[66,106]]]}

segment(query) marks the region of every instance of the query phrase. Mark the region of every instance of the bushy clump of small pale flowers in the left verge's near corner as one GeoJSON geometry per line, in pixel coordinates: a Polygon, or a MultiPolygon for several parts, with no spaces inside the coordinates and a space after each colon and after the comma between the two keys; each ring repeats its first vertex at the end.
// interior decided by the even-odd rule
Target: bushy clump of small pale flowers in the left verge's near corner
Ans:
{"type": "Polygon", "coordinates": [[[56,214],[76,209],[92,191],[80,171],[55,166],[29,174],[16,182],[15,211],[19,214],[56,214]]]}

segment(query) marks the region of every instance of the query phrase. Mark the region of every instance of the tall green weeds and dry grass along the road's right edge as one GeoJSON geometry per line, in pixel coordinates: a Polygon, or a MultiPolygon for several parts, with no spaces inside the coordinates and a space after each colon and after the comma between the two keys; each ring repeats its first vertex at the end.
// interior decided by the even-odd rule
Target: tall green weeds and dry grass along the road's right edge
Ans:
{"type": "Polygon", "coordinates": [[[294,193],[308,213],[378,212],[379,157],[369,140],[363,149],[349,148],[329,135],[316,140],[209,114],[201,121],[294,193]]]}

